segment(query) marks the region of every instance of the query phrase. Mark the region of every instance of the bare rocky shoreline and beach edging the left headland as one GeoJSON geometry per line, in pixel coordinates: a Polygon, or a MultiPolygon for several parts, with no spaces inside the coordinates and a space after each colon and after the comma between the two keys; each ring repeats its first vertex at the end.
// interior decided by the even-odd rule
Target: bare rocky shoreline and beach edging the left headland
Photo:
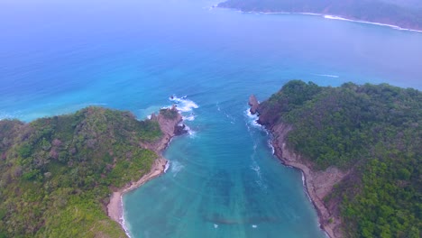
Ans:
{"type": "Polygon", "coordinates": [[[132,191],[135,188],[139,188],[144,183],[148,182],[152,178],[159,177],[166,168],[168,160],[162,157],[161,153],[164,149],[167,148],[171,139],[179,134],[186,133],[185,125],[180,124],[182,122],[182,116],[179,114],[176,106],[169,109],[165,109],[167,112],[173,113],[174,117],[168,117],[165,114],[152,114],[151,120],[157,121],[160,124],[160,129],[163,135],[161,139],[154,143],[143,143],[140,142],[140,146],[157,153],[158,158],[155,160],[151,166],[149,173],[145,174],[139,180],[135,182],[130,182],[124,186],[124,188],[119,188],[113,192],[110,197],[110,202],[106,206],[107,215],[121,225],[124,231],[127,233],[124,227],[124,217],[123,217],[123,200],[122,197],[125,193],[132,191]]]}

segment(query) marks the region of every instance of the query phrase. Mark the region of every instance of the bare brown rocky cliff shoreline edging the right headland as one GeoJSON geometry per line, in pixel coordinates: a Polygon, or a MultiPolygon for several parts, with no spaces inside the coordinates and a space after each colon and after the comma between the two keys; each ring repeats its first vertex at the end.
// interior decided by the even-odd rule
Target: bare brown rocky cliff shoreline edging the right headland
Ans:
{"type": "MultiPolygon", "coordinates": [[[[260,104],[255,96],[250,96],[249,105],[251,106],[252,114],[260,115],[260,104]]],[[[292,130],[289,124],[268,124],[262,116],[259,117],[258,123],[265,126],[271,132],[273,136],[271,143],[277,158],[284,165],[302,171],[305,177],[307,195],[316,207],[321,229],[326,231],[329,237],[343,237],[340,230],[341,218],[335,215],[335,212],[325,205],[323,199],[332,192],[335,184],[347,176],[348,172],[343,172],[335,167],[328,168],[324,171],[312,169],[313,166],[307,160],[304,160],[300,155],[287,148],[287,135],[292,130]]]]}

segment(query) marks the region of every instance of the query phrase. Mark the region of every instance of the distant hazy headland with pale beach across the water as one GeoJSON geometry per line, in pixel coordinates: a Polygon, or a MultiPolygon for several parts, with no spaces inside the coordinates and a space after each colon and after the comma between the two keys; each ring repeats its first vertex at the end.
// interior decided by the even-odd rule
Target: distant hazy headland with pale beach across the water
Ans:
{"type": "Polygon", "coordinates": [[[243,12],[321,14],[422,31],[422,6],[405,3],[399,0],[227,0],[217,6],[243,12]]]}

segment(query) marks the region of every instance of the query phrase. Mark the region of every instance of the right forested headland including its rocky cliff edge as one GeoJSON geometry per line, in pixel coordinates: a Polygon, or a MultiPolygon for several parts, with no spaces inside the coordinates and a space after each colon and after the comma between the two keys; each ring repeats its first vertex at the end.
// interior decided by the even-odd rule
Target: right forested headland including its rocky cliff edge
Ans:
{"type": "Polygon", "coordinates": [[[275,155],[303,172],[330,237],[421,237],[420,91],[292,80],[249,105],[275,155]]]}

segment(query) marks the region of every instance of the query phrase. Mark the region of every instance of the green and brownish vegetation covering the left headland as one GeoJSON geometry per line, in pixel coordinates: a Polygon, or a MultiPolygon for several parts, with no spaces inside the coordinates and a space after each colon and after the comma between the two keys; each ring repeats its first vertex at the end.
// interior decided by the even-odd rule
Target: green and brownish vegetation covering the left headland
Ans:
{"type": "Polygon", "coordinates": [[[0,237],[124,237],[105,213],[111,188],[151,169],[140,142],[160,137],[155,121],[99,107],[0,121],[0,237]]]}

